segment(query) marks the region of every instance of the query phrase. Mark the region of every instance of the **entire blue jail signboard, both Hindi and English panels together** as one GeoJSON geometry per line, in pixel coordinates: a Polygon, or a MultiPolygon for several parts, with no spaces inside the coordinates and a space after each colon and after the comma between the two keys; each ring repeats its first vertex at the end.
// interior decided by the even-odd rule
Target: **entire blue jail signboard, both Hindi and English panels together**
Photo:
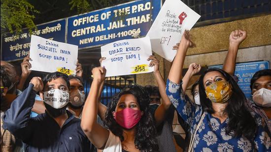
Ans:
{"type": "Polygon", "coordinates": [[[90,48],[122,39],[145,36],[161,8],[161,0],[135,0],[37,26],[20,35],[1,36],[1,60],[21,60],[29,54],[31,35],[90,48]],[[66,23],[66,20],[68,22],[66,23]],[[68,27],[68,30],[66,30],[68,27]],[[67,34],[67,35],[66,35],[67,34]]]}

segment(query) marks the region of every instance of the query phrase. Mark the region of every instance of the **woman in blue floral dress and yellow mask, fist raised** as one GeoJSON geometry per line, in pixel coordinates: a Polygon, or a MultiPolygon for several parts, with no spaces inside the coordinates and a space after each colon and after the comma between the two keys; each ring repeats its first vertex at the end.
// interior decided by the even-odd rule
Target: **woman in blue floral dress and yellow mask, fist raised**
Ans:
{"type": "Polygon", "coordinates": [[[204,72],[199,80],[201,105],[182,91],[181,73],[188,47],[185,31],[169,72],[167,94],[178,114],[191,128],[195,152],[268,152],[270,135],[259,116],[248,111],[245,96],[233,78],[220,69],[204,72]],[[200,124],[200,125],[199,125],[200,124]]]}

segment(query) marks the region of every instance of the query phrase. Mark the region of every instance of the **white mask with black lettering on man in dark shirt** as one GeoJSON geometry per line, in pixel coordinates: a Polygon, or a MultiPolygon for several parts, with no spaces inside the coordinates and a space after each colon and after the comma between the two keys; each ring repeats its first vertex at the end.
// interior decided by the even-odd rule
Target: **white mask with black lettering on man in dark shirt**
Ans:
{"type": "Polygon", "coordinates": [[[66,106],[69,102],[69,93],[54,89],[43,93],[43,101],[55,109],[66,106]]]}

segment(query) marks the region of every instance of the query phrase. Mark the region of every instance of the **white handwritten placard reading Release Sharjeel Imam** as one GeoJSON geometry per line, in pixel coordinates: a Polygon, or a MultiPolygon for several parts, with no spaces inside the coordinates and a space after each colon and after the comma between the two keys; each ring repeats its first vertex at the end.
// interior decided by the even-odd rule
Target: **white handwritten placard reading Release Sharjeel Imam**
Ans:
{"type": "Polygon", "coordinates": [[[31,70],[75,74],[78,46],[31,36],[31,70]]]}

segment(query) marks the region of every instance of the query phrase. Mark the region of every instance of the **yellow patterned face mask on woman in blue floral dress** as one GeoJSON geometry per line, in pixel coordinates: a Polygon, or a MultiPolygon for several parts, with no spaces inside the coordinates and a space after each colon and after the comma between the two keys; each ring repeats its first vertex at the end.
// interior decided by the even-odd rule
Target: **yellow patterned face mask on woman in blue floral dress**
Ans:
{"type": "Polygon", "coordinates": [[[215,81],[205,89],[208,98],[215,103],[225,103],[232,96],[232,89],[227,81],[215,81]]]}

